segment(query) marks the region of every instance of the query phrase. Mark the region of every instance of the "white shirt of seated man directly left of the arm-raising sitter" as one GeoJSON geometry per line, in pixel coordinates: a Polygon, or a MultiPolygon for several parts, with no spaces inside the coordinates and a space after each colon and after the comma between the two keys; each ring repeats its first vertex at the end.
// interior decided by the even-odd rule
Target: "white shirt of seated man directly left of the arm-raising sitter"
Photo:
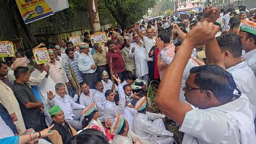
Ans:
{"type": "Polygon", "coordinates": [[[104,106],[106,103],[106,98],[104,93],[101,91],[96,90],[92,96],[93,101],[96,103],[96,107],[99,110],[100,116],[103,116],[104,106]]]}

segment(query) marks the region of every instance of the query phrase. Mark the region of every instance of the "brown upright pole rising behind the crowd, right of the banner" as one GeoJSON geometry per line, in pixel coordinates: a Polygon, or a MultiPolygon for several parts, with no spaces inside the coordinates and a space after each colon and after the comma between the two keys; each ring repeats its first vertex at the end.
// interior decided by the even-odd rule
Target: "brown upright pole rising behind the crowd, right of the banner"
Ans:
{"type": "Polygon", "coordinates": [[[89,13],[90,26],[92,27],[92,32],[100,32],[100,19],[98,13],[98,1],[97,0],[87,0],[87,9],[89,13]]]}

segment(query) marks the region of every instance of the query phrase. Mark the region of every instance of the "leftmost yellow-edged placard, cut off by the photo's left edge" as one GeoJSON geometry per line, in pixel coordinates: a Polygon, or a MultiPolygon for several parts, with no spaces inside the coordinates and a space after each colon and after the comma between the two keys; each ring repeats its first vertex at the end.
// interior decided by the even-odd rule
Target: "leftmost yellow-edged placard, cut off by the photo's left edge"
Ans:
{"type": "Polygon", "coordinates": [[[14,44],[11,41],[0,41],[0,57],[14,57],[14,44]]]}

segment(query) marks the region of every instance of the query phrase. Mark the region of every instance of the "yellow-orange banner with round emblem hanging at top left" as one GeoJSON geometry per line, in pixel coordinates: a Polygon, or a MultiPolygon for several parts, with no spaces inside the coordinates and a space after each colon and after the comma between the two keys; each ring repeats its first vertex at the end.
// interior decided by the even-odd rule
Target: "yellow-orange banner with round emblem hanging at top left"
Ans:
{"type": "Polygon", "coordinates": [[[53,9],[45,0],[16,0],[25,24],[53,15],[53,9]]]}

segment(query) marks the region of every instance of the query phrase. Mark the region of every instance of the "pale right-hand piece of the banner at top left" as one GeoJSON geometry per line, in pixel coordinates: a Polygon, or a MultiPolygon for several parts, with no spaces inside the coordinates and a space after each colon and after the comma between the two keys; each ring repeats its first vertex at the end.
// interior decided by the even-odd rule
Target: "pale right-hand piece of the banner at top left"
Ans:
{"type": "Polygon", "coordinates": [[[59,12],[69,8],[69,2],[67,0],[46,0],[54,12],[59,12]]]}

